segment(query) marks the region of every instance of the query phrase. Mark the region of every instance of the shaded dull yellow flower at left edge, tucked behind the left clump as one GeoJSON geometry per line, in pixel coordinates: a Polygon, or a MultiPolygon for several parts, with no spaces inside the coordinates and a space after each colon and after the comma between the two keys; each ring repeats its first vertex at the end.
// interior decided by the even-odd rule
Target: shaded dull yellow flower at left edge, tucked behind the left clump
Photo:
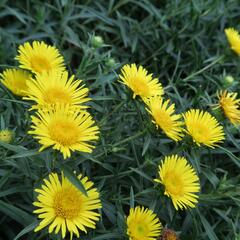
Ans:
{"type": "Polygon", "coordinates": [[[29,72],[20,69],[7,69],[0,74],[2,84],[18,96],[25,96],[26,82],[31,79],[29,72]]]}

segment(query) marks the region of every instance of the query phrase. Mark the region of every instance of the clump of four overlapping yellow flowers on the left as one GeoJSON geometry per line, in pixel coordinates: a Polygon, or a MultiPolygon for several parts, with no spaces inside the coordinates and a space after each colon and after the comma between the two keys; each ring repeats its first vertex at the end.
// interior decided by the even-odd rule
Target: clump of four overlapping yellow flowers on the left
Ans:
{"type": "Polygon", "coordinates": [[[16,60],[22,69],[7,69],[2,83],[18,96],[30,100],[32,134],[42,145],[52,146],[64,158],[72,151],[92,152],[91,142],[98,139],[99,129],[84,105],[90,100],[82,80],[69,76],[64,58],[56,47],[34,41],[20,45],[16,60]]]}

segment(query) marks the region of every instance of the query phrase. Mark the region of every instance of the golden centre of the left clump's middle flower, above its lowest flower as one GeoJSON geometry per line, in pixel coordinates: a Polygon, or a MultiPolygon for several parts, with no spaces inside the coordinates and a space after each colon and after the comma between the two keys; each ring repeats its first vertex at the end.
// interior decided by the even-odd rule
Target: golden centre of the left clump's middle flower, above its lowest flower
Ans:
{"type": "Polygon", "coordinates": [[[44,93],[44,101],[49,104],[69,103],[71,102],[71,98],[66,93],[66,89],[50,88],[44,93]]]}

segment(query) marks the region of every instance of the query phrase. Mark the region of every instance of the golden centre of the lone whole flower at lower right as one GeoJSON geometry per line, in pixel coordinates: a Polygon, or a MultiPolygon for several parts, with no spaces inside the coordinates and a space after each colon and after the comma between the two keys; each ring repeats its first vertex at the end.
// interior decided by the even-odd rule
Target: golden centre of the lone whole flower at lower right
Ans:
{"type": "Polygon", "coordinates": [[[183,196],[184,186],[181,177],[174,172],[168,172],[165,178],[166,192],[174,196],[183,196]]]}

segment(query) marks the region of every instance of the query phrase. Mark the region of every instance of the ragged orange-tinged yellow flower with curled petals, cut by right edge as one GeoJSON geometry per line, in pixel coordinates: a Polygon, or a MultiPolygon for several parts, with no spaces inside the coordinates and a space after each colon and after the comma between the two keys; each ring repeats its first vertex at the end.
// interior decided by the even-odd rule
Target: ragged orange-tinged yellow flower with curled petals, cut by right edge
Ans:
{"type": "Polygon", "coordinates": [[[227,91],[220,91],[218,93],[220,107],[225,116],[234,125],[240,124],[240,99],[237,99],[237,93],[228,93],[227,91]]]}

